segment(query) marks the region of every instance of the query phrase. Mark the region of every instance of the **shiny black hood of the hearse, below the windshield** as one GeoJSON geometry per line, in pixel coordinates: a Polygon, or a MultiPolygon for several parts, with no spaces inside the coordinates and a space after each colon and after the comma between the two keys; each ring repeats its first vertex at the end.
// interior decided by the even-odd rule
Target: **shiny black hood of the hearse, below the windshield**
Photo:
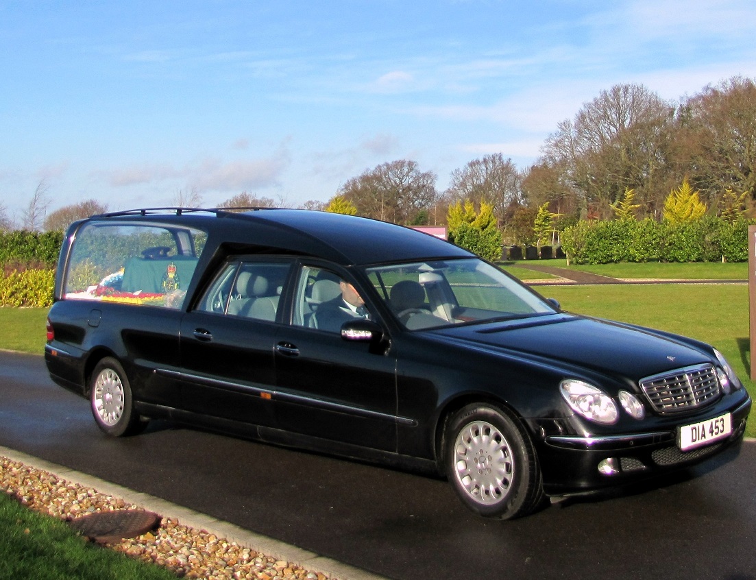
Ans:
{"type": "Polygon", "coordinates": [[[566,313],[439,329],[447,340],[498,350],[539,364],[625,377],[633,382],[691,364],[711,355],[683,337],[566,313]]]}

